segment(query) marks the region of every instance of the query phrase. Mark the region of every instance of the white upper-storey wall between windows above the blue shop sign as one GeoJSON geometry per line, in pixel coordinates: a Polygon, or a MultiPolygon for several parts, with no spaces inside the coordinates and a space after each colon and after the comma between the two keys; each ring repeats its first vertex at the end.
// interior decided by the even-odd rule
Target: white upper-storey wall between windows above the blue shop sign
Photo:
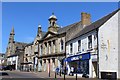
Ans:
{"type": "Polygon", "coordinates": [[[92,31],[89,32],[83,36],[80,36],[76,39],[73,39],[69,42],[67,42],[66,45],[66,53],[68,54],[67,56],[69,56],[70,54],[74,55],[76,53],[78,53],[78,40],[81,40],[81,53],[85,53],[88,50],[88,36],[92,35],[92,48],[94,49],[94,46],[97,45],[97,40],[94,41],[94,35],[96,35],[96,31],[92,31]],[[73,52],[70,53],[70,43],[73,44],[73,52]]]}

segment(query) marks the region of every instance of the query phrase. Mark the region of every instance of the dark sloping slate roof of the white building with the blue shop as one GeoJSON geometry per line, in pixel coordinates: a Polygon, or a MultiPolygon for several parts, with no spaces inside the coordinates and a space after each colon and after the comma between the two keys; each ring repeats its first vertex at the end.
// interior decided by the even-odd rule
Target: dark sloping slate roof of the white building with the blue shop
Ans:
{"type": "MultiPolygon", "coordinates": [[[[84,29],[82,29],[79,33],[77,33],[75,36],[73,36],[73,37],[71,38],[71,40],[72,40],[72,39],[75,39],[75,38],[77,38],[77,37],[79,37],[79,36],[81,36],[81,35],[84,35],[84,34],[90,32],[90,31],[92,31],[92,30],[95,30],[95,29],[99,28],[99,27],[100,27],[101,25],[103,25],[107,20],[109,20],[114,14],[116,14],[119,10],[120,10],[120,8],[117,9],[117,10],[115,10],[115,11],[113,11],[112,13],[108,14],[107,16],[104,16],[103,18],[101,18],[101,19],[93,22],[92,24],[86,26],[86,27],[85,27],[84,29]]],[[[71,41],[71,40],[68,40],[67,42],[69,42],[69,41],[71,41]]]]}

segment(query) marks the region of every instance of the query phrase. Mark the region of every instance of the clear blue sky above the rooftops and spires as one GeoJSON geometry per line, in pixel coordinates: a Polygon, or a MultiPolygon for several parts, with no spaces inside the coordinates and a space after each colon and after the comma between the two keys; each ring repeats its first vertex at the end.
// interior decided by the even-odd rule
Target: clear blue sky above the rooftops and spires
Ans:
{"type": "Polygon", "coordinates": [[[81,20],[81,12],[91,14],[94,22],[118,8],[117,2],[3,2],[2,50],[5,53],[12,27],[15,41],[30,43],[35,39],[40,24],[48,30],[48,18],[54,14],[57,24],[65,27],[81,20]]]}

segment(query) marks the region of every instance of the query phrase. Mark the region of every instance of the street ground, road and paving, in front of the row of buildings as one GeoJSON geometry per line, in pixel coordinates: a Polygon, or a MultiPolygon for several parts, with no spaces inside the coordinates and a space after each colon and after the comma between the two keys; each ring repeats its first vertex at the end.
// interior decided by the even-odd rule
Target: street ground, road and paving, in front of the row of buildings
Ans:
{"type": "MultiPolygon", "coordinates": [[[[9,74],[9,77],[4,77],[3,78],[22,78],[20,80],[98,80],[98,79],[95,79],[95,78],[81,78],[80,76],[78,76],[76,78],[76,76],[68,76],[68,75],[65,75],[65,78],[64,78],[64,75],[56,75],[56,78],[55,78],[55,73],[54,72],[51,72],[50,73],[50,77],[48,75],[48,72],[23,72],[23,71],[4,71],[6,73],[9,74]]],[[[14,80],[14,79],[12,79],[14,80]]]]}

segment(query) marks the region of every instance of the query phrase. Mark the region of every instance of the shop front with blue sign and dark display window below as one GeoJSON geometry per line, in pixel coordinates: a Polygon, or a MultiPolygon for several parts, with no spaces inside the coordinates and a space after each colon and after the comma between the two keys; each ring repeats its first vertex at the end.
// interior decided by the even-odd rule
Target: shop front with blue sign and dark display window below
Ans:
{"type": "Polygon", "coordinates": [[[72,72],[73,74],[89,75],[90,57],[90,53],[77,54],[74,56],[67,57],[65,59],[68,68],[67,74],[70,74],[72,72]]]}

